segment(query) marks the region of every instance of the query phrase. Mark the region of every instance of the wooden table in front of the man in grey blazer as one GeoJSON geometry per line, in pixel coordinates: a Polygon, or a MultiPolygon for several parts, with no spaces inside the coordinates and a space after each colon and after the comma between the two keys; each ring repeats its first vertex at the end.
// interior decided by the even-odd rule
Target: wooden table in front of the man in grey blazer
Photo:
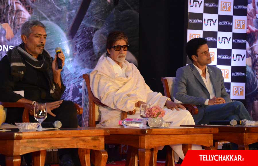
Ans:
{"type": "Polygon", "coordinates": [[[213,135],[214,142],[229,141],[236,143],[239,150],[249,150],[249,144],[258,142],[256,126],[220,126],[220,125],[181,125],[189,127],[216,127],[218,133],[213,135]]]}

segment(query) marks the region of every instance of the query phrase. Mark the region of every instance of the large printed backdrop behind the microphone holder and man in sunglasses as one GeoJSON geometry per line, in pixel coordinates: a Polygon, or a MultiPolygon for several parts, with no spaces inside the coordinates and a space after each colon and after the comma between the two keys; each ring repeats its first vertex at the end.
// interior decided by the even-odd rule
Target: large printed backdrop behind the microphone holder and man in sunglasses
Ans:
{"type": "Polygon", "coordinates": [[[62,70],[64,100],[83,106],[79,125],[88,126],[87,88],[82,75],[90,73],[105,55],[108,33],[122,30],[129,37],[127,60],[138,66],[139,2],[135,0],[1,0],[0,60],[21,43],[20,28],[30,19],[46,26],[45,49],[54,58],[55,48],[65,55],[62,70]]]}

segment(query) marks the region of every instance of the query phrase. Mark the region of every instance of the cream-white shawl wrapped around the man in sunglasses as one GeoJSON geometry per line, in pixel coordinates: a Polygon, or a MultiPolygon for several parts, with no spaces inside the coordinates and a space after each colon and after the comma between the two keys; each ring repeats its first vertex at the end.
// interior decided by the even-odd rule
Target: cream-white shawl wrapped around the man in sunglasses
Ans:
{"type": "Polygon", "coordinates": [[[100,59],[90,74],[93,95],[109,107],[99,107],[101,122],[120,115],[122,111],[134,110],[138,101],[163,108],[167,100],[161,93],[150,90],[134,64],[126,60],[124,63],[127,65],[126,77],[115,76],[107,57],[100,59]]]}

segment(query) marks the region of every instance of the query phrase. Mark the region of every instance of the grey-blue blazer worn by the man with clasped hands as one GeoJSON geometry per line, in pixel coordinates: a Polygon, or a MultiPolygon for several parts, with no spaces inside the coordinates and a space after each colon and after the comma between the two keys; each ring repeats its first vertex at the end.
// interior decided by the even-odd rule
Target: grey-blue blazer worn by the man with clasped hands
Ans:
{"type": "MultiPolygon", "coordinates": [[[[224,98],[226,103],[231,102],[230,95],[225,90],[221,70],[211,65],[207,65],[207,68],[215,96],[224,98]]],[[[198,114],[193,115],[196,124],[203,118],[207,106],[204,102],[207,98],[210,98],[210,93],[202,80],[202,76],[193,64],[177,69],[174,97],[185,104],[190,103],[198,106],[198,114]]]]}

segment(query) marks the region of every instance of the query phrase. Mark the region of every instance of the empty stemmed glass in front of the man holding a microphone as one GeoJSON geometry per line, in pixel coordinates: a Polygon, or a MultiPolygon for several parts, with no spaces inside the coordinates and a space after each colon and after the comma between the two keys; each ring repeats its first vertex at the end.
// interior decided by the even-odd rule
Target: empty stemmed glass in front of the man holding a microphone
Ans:
{"type": "Polygon", "coordinates": [[[41,123],[46,119],[46,117],[47,117],[46,103],[36,102],[34,106],[34,118],[40,123],[40,126],[38,127],[38,131],[42,131],[44,129],[42,128],[41,123]]]}

